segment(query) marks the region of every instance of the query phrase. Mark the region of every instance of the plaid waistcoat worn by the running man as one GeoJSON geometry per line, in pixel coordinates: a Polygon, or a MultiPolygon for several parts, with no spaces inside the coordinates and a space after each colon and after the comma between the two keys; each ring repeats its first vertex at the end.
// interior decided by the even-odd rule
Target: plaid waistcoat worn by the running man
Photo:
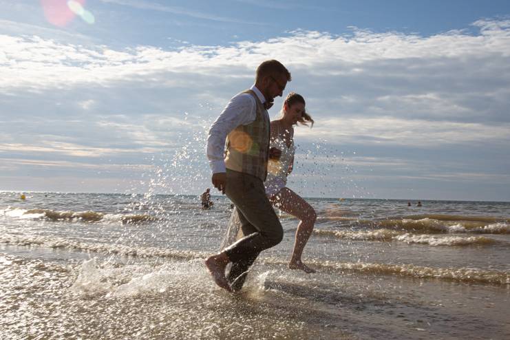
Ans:
{"type": "Polygon", "coordinates": [[[227,169],[249,173],[264,182],[269,153],[269,115],[255,92],[247,89],[242,93],[255,98],[257,116],[252,123],[239,125],[226,137],[225,166],[227,169]]]}

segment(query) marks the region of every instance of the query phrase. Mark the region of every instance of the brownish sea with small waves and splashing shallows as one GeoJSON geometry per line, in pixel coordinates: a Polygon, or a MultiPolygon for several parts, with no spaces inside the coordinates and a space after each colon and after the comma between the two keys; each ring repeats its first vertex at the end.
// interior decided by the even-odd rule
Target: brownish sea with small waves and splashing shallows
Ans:
{"type": "Polygon", "coordinates": [[[0,339],[510,339],[510,203],[307,198],[241,293],[215,286],[231,202],[0,193],[0,339]],[[407,205],[411,203],[411,206],[407,205]]]}

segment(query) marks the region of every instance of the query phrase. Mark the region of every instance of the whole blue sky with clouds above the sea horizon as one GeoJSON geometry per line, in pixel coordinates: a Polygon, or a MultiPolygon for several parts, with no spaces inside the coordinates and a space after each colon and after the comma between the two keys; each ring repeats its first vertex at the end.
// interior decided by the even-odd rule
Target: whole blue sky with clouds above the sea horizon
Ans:
{"type": "Polygon", "coordinates": [[[315,119],[297,193],[510,201],[510,1],[0,8],[2,191],[201,193],[209,126],[277,59],[315,119]]]}

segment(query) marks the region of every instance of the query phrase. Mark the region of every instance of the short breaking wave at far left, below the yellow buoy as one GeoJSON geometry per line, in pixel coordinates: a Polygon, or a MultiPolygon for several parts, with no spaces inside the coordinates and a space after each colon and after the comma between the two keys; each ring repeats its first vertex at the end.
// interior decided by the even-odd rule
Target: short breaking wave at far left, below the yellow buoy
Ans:
{"type": "Polygon", "coordinates": [[[50,209],[5,209],[4,217],[17,220],[48,220],[79,221],[79,222],[122,222],[123,224],[139,224],[157,220],[156,217],[148,214],[113,214],[99,213],[96,211],[54,211],[50,209]]]}

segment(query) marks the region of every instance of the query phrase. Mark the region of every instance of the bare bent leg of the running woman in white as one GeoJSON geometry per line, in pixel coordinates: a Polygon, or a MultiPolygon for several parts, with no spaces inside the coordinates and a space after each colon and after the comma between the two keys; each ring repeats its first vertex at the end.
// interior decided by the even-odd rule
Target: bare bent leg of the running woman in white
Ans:
{"type": "Polygon", "coordinates": [[[281,189],[277,195],[270,198],[270,201],[278,209],[290,213],[290,215],[300,220],[297,224],[294,251],[292,257],[290,257],[288,268],[304,270],[306,273],[315,273],[315,270],[301,262],[303,249],[310,235],[312,235],[313,226],[317,219],[315,210],[301,196],[288,188],[281,189]]]}

